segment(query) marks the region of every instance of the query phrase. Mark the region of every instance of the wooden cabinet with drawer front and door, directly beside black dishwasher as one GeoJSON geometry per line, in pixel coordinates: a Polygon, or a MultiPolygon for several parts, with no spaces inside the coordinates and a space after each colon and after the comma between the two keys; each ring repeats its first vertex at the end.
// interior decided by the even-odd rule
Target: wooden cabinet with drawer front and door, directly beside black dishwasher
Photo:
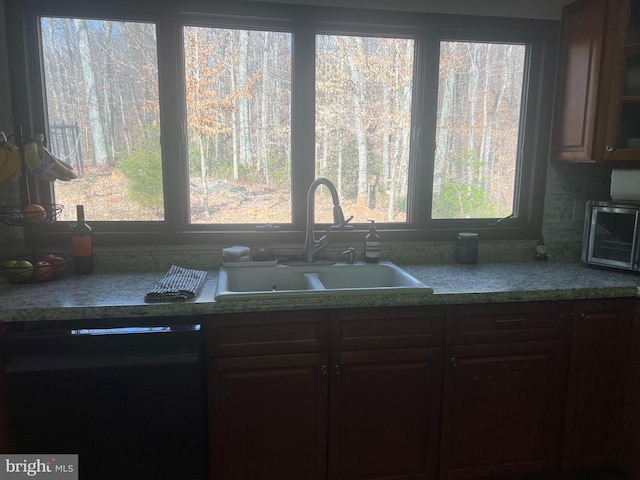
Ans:
{"type": "Polygon", "coordinates": [[[211,479],[326,477],[326,317],[230,314],[205,324],[211,479]]]}

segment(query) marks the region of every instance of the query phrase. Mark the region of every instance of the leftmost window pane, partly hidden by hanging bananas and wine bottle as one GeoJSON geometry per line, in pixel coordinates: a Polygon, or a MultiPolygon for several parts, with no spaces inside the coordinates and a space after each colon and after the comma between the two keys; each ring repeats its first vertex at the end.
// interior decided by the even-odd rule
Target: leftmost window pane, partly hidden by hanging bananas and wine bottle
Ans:
{"type": "Polygon", "coordinates": [[[54,184],[56,203],[164,220],[155,25],[42,17],[40,31],[49,146],[79,175],[54,184]]]}

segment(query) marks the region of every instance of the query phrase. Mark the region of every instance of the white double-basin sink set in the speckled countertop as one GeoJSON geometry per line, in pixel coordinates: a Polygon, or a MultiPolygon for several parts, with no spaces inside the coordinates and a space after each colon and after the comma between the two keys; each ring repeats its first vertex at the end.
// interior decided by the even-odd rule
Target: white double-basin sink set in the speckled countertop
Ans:
{"type": "Polygon", "coordinates": [[[433,289],[391,262],[304,263],[221,267],[215,299],[402,293],[433,289]]]}

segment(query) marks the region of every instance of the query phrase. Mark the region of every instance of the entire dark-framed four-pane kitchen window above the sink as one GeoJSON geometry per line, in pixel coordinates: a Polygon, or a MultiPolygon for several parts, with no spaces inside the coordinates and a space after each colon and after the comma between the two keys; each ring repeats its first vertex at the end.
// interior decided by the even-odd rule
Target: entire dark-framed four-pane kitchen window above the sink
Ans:
{"type": "Polygon", "coordinates": [[[80,177],[30,190],[65,221],[83,203],[105,244],[302,242],[320,176],[354,216],[338,240],[370,219],[387,240],[540,233],[553,22],[9,4],[37,51],[14,79],[43,80],[14,80],[14,113],[80,177]]]}

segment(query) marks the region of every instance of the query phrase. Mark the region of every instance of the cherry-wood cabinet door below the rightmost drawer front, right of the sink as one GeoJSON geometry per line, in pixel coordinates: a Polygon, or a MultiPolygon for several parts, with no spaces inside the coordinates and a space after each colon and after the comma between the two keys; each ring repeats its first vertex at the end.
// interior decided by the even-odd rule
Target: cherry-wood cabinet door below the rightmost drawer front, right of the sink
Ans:
{"type": "Polygon", "coordinates": [[[556,469],[564,356],[561,341],[447,348],[440,478],[556,469]]]}

